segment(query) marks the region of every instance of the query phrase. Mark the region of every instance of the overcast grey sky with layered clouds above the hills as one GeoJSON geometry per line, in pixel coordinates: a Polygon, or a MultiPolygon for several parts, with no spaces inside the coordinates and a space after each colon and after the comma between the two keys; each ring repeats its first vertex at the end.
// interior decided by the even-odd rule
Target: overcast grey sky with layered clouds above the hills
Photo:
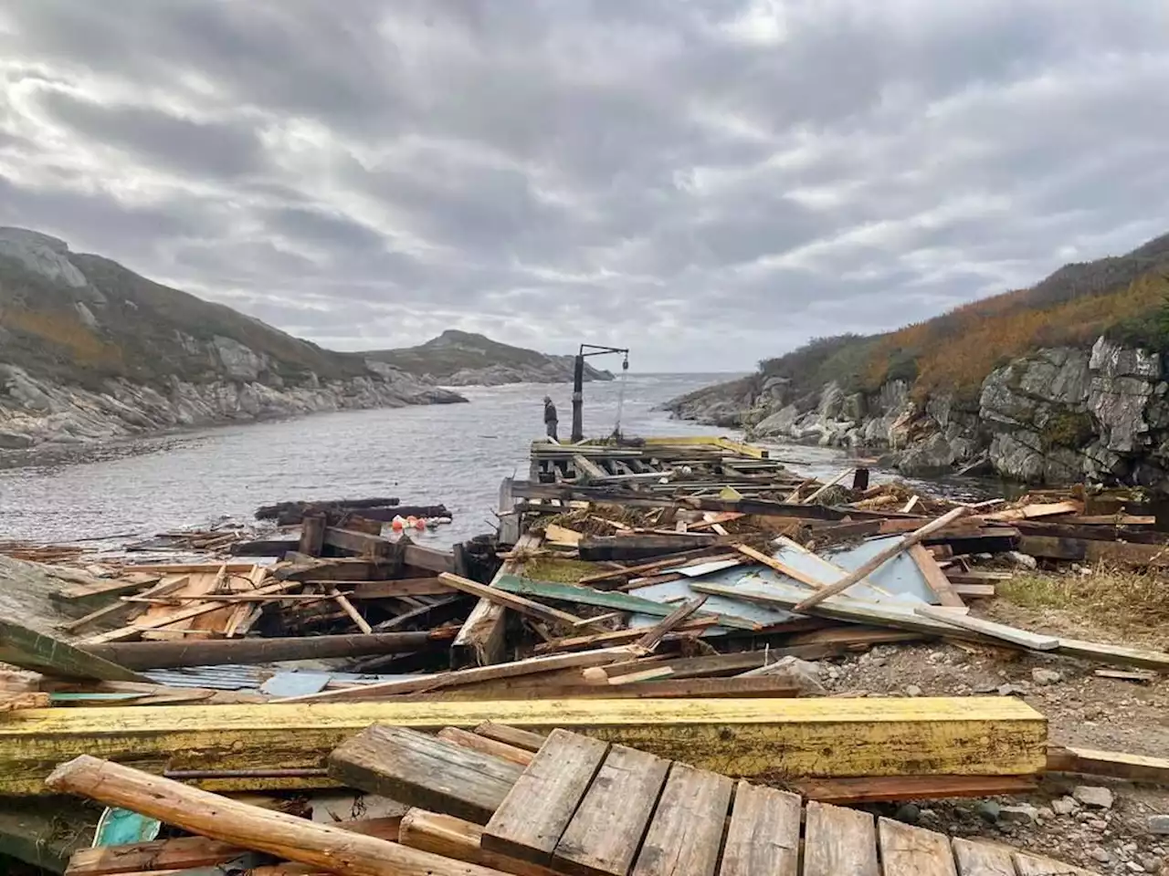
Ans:
{"type": "Polygon", "coordinates": [[[0,0],[0,224],[318,343],[746,369],[1169,230],[1162,0],[0,0]]]}

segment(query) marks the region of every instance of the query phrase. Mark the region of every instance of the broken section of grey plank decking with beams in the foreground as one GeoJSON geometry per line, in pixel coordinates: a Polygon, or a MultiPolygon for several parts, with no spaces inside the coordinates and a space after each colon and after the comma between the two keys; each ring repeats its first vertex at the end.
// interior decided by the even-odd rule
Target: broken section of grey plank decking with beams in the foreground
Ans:
{"type": "Polygon", "coordinates": [[[352,785],[431,809],[401,842],[533,876],[1087,874],[1002,846],[698,770],[566,730],[438,739],[371,728],[334,752],[352,785]],[[478,741],[476,741],[478,737],[478,741]],[[511,759],[504,762],[503,758],[511,759]],[[455,816],[455,818],[451,818],[455,816]],[[461,819],[466,819],[462,821],[461,819]],[[483,827],[480,827],[483,826],[483,827]]]}

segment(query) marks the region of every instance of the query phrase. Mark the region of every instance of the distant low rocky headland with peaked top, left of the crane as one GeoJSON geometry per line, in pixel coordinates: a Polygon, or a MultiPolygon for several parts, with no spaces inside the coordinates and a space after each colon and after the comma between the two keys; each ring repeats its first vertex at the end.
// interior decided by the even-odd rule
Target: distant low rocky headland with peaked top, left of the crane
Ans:
{"type": "MultiPolygon", "coordinates": [[[[573,356],[511,347],[482,334],[457,329],[443,332],[417,347],[373,350],[364,355],[447,387],[570,383],[573,380],[573,356]]],[[[613,374],[586,362],[584,380],[611,381],[613,374]]]]}

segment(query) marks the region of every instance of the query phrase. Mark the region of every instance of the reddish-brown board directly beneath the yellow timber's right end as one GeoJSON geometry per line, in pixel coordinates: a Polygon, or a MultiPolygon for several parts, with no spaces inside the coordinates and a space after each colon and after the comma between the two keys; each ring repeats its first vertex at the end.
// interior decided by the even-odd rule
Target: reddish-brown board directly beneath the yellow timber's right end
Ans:
{"type": "Polygon", "coordinates": [[[1035,791],[1037,784],[1035,776],[864,776],[844,779],[804,779],[791,783],[790,787],[809,800],[859,806],[895,800],[1028,794],[1035,791]]]}

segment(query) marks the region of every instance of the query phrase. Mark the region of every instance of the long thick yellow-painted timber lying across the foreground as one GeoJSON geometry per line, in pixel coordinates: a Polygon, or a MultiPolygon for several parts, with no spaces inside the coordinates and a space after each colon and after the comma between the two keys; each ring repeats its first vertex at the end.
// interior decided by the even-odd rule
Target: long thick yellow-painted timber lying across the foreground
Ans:
{"type": "MultiPolygon", "coordinates": [[[[0,794],[43,793],[53,767],[94,755],[145,770],[320,767],[373,723],[562,726],[745,777],[1012,776],[1046,764],[1046,719],[1012,697],[507,700],[35,709],[0,721],[0,794]]],[[[327,784],[216,780],[219,790],[327,784]]]]}

